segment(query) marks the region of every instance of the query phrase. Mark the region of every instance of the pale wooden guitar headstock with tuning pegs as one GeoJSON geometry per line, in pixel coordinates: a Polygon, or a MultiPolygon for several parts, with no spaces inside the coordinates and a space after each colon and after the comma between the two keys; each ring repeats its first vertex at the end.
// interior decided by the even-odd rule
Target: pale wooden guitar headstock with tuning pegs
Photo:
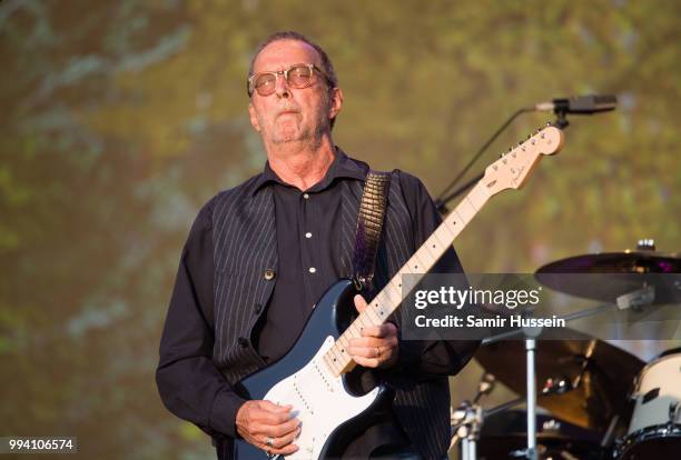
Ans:
{"type": "Polygon", "coordinates": [[[490,164],[482,183],[491,196],[506,189],[520,189],[542,156],[557,153],[564,139],[563,131],[546,123],[546,127],[490,164]]]}

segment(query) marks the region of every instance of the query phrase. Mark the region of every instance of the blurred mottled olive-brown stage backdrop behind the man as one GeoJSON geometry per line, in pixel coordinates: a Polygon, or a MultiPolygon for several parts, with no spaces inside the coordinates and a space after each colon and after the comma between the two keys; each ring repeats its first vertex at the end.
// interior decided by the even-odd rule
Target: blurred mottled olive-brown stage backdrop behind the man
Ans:
{"type": "MultiPolygon", "coordinates": [[[[643,237],[681,250],[680,16],[625,0],[0,2],[0,436],[214,458],[154,372],[190,223],[265,162],[245,80],[272,32],[332,57],[336,143],[433,196],[516,109],[618,94],[614,112],[571,117],[563,151],[455,243],[470,272],[533,272],[643,237]]],[[[552,119],[523,116],[470,177],[552,119]]],[[[454,404],[481,372],[452,379],[454,404]]]]}

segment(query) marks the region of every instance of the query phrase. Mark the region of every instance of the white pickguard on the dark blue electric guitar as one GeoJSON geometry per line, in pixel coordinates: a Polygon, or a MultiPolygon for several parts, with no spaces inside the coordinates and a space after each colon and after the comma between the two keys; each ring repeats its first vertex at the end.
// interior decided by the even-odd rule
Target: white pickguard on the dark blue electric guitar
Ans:
{"type": "Polygon", "coordinates": [[[293,414],[302,422],[295,443],[298,451],[286,459],[316,460],[330,433],[342,423],[366,410],[378,397],[376,387],[362,397],[354,397],[343,387],[343,379],[334,377],[323,360],[334,344],[327,337],[315,357],[298,372],[275,384],[265,394],[277,404],[292,404],[293,414]]]}

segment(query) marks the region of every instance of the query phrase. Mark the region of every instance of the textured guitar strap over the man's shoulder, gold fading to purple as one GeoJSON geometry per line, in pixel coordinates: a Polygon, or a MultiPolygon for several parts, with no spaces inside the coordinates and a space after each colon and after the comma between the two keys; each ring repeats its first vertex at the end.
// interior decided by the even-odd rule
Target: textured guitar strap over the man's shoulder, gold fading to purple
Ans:
{"type": "Polygon", "coordinates": [[[357,212],[355,233],[353,281],[357,291],[368,290],[372,287],[389,188],[389,172],[368,171],[357,212]]]}

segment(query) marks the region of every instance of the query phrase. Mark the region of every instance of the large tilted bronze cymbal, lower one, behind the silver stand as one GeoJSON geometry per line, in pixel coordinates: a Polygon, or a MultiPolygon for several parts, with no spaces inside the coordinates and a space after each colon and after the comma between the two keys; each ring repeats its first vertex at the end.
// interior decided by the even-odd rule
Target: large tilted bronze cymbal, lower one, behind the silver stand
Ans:
{"type": "MultiPolygon", "coordinates": [[[[537,404],[571,423],[604,432],[614,416],[622,423],[628,418],[628,394],[644,363],[608,342],[571,333],[584,340],[536,341],[537,404]],[[574,388],[562,394],[542,394],[549,379],[564,379],[574,388]]],[[[475,359],[511,390],[525,392],[524,341],[487,343],[475,359]]]]}

